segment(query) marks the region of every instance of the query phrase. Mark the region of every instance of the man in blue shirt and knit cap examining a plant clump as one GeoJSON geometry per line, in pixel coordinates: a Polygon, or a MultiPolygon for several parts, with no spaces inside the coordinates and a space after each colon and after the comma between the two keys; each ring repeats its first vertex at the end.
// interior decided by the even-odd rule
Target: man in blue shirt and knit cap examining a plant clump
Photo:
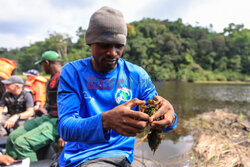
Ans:
{"type": "Polygon", "coordinates": [[[121,59],[127,28],[120,11],[103,7],[90,19],[86,43],[92,57],[66,64],[58,88],[58,132],[67,141],[60,166],[131,166],[135,136],[152,127],[176,127],[172,105],[158,96],[148,74],[121,59]],[[137,105],[155,99],[149,117],[137,105]],[[164,116],[161,121],[156,118],[164,116]]]}

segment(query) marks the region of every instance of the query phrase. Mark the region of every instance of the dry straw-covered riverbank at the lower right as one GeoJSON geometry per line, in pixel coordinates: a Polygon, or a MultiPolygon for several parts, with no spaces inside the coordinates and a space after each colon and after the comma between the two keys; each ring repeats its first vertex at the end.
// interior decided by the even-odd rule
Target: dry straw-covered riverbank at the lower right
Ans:
{"type": "Polygon", "coordinates": [[[250,166],[250,126],[242,115],[215,110],[184,124],[194,138],[194,166],[250,166]]]}

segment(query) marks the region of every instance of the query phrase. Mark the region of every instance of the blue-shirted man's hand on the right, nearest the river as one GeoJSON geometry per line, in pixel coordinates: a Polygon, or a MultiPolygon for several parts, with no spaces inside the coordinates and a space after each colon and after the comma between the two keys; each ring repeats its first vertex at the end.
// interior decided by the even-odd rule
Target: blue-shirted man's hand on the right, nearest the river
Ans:
{"type": "Polygon", "coordinates": [[[151,126],[162,131],[163,129],[170,127],[174,124],[175,115],[173,106],[161,96],[155,96],[153,98],[157,104],[160,105],[159,110],[149,118],[151,126]],[[159,117],[163,117],[160,121],[154,121],[159,117]]]}

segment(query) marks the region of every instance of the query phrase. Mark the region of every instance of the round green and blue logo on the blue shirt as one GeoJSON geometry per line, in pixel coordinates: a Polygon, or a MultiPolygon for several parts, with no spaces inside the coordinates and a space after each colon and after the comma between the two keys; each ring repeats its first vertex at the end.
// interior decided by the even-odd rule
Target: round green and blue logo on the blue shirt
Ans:
{"type": "Polygon", "coordinates": [[[132,91],[128,88],[118,88],[115,93],[116,103],[123,104],[132,99],[132,91]]]}

